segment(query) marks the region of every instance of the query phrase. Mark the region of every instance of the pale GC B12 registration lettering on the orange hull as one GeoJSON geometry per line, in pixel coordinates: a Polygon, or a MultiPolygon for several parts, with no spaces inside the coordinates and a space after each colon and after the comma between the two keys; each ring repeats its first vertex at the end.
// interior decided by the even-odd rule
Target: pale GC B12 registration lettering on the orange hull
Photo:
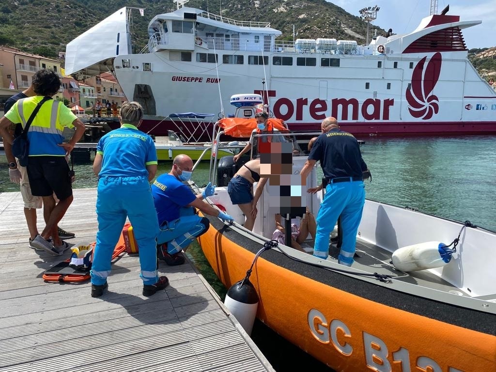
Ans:
{"type": "MultiPolygon", "coordinates": [[[[334,348],[344,356],[353,354],[353,338],[348,326],[339,319],[332,319],[329,323],[325,315],[319,310],[311,309],[308,314],[310,332],[323,344],[332,344],[334,348]]],[[[389,351],[387,345],[379,337],[363,331],[363,347],[365,352],[365,362],[371,371],[391,372],[391,362],[387,359],[389,351]]],[[[357,347],[357,345],[355,345],[357,347]]],[[[401,366],[401,372],[410,372],[410,354],[408,349],[401,347],[392,353],[392,363],[401,366]]],[[[443,372],[439,365],[431,358],[420,356],[417,358],[415,366],[421,371],[443,372]]],[[[453,367],[449,367],[447,372],[463,372],[453,367]]]]}

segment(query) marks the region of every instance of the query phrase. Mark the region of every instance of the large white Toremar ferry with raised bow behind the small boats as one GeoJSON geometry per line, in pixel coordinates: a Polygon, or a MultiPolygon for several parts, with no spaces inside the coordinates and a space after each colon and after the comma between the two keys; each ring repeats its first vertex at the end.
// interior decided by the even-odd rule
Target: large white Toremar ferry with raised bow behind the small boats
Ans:
{"type": "MultiPolygon", "coordinates": [[[[481,21],[434,14],[411,33],[369,45],[328,38],[279,41],[269,23],[238,21],[178,2],[156,15],[148,44],[131,53],[131,8],[67,45],[76,79],[111,71],[146,110],[142,129],[166,135],[171,113],[219,117],[232,95],[261,94],[293,130],[327,116],[356,135],[496,133],[496,91],[469,62],[462,30],[481,21]],[[98,40],[98,42],[95,42],[98,40]]],[[[251,115],[247,113],[247,115],[251,115]]]]}

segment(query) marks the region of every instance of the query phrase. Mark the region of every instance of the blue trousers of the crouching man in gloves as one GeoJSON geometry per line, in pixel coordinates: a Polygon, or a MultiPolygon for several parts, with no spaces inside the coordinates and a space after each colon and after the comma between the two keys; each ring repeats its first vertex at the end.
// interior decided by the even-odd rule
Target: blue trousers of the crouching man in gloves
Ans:
{"type": "Polygon", "coordinates": [[[208,226],[205,224],[208,224],[208,220],[196,214],[183,215],[170,222],[165,221],[160,226],[157,242],[158,244],[167,243],[167,253],[169,254],[180,252],[207,231],[208,226]]]}

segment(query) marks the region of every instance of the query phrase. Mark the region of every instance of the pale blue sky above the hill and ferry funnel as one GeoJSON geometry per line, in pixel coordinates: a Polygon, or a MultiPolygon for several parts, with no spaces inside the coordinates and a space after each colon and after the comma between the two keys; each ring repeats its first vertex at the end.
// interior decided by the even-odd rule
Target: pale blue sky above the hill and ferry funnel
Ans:
{"type": "MultiPolygon", "coordinates": [[[[396,34],[409,33],[429,15],[430,0],[330,0],[347,12],[360,16],[359,10],[378,5],[375,25],[396,34]]],[[[437,13],[449,4],[448,15],[459,15],[461,21],[481,20],[482,24],[462,30],[468,49],[496,46],[496,0],[438,0],[437,13]]],[[[364,35],[365,36],[365,35],[364,35]]]]}

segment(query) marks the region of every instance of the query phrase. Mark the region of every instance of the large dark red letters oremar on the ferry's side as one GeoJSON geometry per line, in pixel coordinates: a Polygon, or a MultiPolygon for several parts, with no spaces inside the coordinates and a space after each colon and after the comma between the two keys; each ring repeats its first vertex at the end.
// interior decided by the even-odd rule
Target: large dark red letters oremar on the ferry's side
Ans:
{"type": "Polygon", "coordinates": [[[324,120],[327,116],[332,116],[340,121],[359,120],[359,112],[365,120],[389,120],[389,110],[394,106],[394,99],[368,98],[361,107],[356,98],[333,98],[331,100],[308,98],[279,98],[273,106],[276,118],[289,121],[295,117],[297,122],[303,121],[304,111],[310,114],[314,120],[324,120]],[[329,112],[330,108],[330,112],[329,112]]]}

